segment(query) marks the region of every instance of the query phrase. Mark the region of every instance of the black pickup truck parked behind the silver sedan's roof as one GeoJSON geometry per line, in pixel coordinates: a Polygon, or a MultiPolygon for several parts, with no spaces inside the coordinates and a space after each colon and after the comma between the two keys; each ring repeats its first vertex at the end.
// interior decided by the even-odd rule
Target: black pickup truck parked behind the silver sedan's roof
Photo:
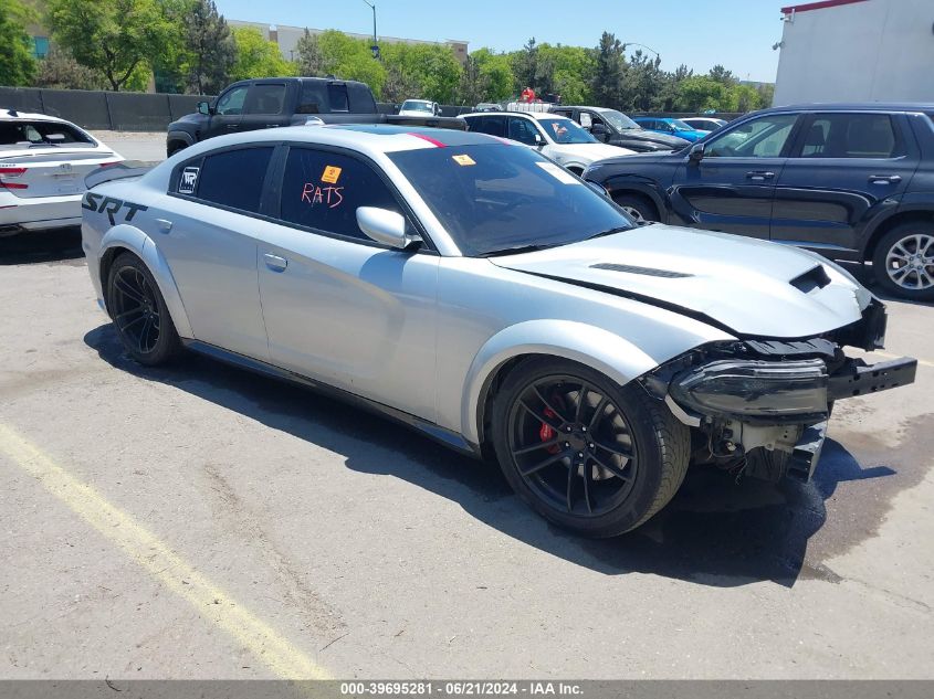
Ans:
{"type": "Polygon", "coordinates": [[[326,77],[275,77],[233,83],[211,103],[198,103],[198,112],[169,124],[166,152],[222,134],[237,134],[277,126],[326,124],[397,124],[465,128],[462,119],[426,115],[380,114],[365,83],[326,77]]]}

